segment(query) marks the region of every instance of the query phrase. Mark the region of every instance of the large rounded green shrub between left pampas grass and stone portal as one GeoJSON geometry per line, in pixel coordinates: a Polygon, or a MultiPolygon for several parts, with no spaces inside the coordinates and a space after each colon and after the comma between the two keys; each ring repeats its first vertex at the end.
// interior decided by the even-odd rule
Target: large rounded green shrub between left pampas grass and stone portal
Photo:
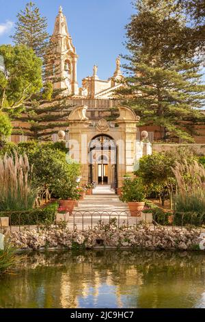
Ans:
{"type": "MultiPolygon", "coordinates": [[[[8,153],[14,153],[13,147],[8,147],[8,153]]],[[[70,160],[61,143],[43,143],[34,141],[16,145],[18,155],[27,154],[29,163],[33,165],[33,186],[40,188],[41,197],[57,193],[57,187],[65,182],[74,182],[80,174],[81,166],[70,160]]],[[[4,147],[6,151],[6,147],[4,147]]]]}

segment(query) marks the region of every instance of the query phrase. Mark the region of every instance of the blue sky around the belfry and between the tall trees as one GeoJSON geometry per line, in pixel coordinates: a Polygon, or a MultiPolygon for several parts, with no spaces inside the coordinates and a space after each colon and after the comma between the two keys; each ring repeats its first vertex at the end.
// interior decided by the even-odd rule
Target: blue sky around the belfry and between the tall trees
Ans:
{"type": "MultiPolygon", "coordinates": [[[[0,0],[0,44],[10,44],[16,14],[29,0],[0,0]]],[[[124,26],[134,13],[131,0],[36,0],[43,16],[48,18],[48,32],[53,33],[55,17],[62,5],[68,31],[77,49],[77,77],[92,75],[98,65],[98,77],[108,79],[115,71],[115,59],[126,53],[124,26]]]]}

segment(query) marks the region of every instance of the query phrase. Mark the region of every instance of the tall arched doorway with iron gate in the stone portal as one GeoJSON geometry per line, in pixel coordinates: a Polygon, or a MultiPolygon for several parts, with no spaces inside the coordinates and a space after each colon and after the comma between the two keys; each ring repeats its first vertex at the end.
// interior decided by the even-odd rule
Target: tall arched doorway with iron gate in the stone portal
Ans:
{"type": "Polygon", "coordinates": [[[106,134],[95,136],[89,145],[90,182],[118,188],[117,146],[106,134]]]}

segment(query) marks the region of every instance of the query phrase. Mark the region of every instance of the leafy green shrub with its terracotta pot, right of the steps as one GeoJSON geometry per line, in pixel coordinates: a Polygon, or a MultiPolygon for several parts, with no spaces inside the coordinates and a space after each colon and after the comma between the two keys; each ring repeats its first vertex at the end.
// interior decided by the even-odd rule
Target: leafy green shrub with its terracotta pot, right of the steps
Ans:
{"type": "Polygon", "coordinates": [[[120,200],[128,203],[131,216],[140,215],[145,205],[146,194],[141,179],[125,180],[122,186],[120,200]]]}

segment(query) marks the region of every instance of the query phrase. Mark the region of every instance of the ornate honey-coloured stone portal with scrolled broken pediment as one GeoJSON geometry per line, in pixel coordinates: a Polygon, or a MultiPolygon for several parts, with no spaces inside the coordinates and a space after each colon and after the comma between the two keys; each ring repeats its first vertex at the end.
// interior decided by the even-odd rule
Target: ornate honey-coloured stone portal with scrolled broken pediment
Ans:
{"type": "Polygon", "coordinates": [[[83,182],[98,184],[103,182],[101,176],[117,188],[122,186],[125,173],[133,173],[139,116],[127,106],[118,110],[118,119],[100,119],[96,126],[86,116],[87,106],[74,108],[68,117],[70,156],[81,162],[83,182]]]}

